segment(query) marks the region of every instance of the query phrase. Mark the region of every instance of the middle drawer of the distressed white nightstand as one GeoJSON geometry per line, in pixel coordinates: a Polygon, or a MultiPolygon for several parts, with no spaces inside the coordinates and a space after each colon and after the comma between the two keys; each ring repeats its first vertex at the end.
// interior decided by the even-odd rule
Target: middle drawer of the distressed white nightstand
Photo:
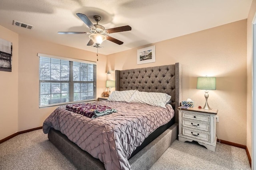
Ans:
{"type": "Polygon", "coordinates": [[[201,121],[193,121],[191,119],[182,119],[182,126],[210,132],[210,124],[204,123],[201,121]]]}

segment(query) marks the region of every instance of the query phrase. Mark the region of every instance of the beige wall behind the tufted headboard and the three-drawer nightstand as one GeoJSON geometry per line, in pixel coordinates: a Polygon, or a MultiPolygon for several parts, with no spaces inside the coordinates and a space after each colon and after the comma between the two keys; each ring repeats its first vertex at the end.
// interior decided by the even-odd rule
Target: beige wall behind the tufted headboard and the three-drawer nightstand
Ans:
{"type": "MultiPolygon", "coordinates": [[[[247,20],[161,41],[156,62],[137,65],[137,49],[107,56],[112,70],[182,64],[182,100],[191,98],[204,106],[204,91],[196,89],[198,76],[216,76],[217,90],[208,104],[217,108],[218,138],[246,145],[246,24],[247,20]]],[[[144,46],[144,47],[147,47],[144,46]]],[[[143,47],[141,47],[143,48],[143,47]]]]}

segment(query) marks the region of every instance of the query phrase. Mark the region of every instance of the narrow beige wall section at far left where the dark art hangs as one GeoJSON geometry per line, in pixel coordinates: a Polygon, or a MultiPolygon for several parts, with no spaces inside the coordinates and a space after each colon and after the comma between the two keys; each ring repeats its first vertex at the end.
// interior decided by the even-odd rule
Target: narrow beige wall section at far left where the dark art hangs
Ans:
{"type": "Polygon", "coordinates": [[[18,131],[18,34],[0,26],[0,38],[12,42],[12,72],[0,71],[0,140],[18,131]]]}

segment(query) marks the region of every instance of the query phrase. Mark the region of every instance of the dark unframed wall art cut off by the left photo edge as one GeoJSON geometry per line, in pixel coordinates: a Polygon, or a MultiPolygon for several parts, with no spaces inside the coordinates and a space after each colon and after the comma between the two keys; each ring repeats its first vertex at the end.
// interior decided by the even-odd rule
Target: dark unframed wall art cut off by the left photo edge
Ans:
{"type": "Polygon", "coordinates": [[[0,71],[12,71],[12,42],[0,38],[0,71]]]}

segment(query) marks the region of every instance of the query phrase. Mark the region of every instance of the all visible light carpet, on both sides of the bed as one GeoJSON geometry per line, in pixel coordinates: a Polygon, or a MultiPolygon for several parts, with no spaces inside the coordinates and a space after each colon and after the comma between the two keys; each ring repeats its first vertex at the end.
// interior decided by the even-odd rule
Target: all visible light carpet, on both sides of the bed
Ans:
{"type": "MultiPolygon", "coordinates": [[[[150,170],[250,170],[244,149],[218,144],[216,152],[174,141],[150,170]]],[[[0,170],[76,170],[42,129],[0,144],[0,170]]]]}

